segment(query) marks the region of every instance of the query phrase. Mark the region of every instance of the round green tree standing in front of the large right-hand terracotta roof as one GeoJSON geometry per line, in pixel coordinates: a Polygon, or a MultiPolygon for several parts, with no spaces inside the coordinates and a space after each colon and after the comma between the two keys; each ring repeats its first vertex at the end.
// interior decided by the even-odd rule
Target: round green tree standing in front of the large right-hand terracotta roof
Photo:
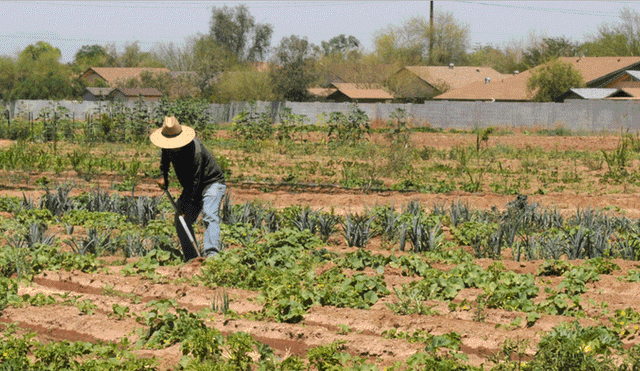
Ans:
{"type": "Polygon", "coordinates": [[[567,62],[553,60],[531,71],[527,90],[534,102],[553,102],[570,88],[583,87],[580,72],[567,62]]]}

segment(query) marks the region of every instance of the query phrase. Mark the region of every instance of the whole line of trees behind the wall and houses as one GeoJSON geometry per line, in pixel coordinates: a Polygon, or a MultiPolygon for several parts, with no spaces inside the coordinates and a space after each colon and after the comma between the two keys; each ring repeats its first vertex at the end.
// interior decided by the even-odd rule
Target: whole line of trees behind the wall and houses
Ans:
{"type": "MultiPolygon", "coordinates": [[[[256,22],[245,5],[237,5],[214,7],[209,32],[191,36],[181,46],[164,43],[143,51],[133,41],[119,52],[114,44],[84,45],[72,62],[60,63],[60,49],[40,41],[16,57],[0,56],[0,100],[77,99],[87,87],[80,75],[89,67],[165,67],[189,73],[143,74],[139,80],[121,82],[121,87],[156,87],[172,100],[309,101],[315,98],[308,87],[326,87],[336,80],[385,86],[391,73],[410,65],[454,63],[513,73],[565,56],[640,56],[640,13],[623,9],[617,21],[598,26],[581,43],[529,35],[527,42],[472,46],[469,26],[440,11],[433,24],[428,17],[416,16],[380,30],[371,52],[344,34],[320,45],[291,35],[275,46],[272,35],[272,25],[256,22]]],[[[556,69],[580,84],[566,66],[556,69]]],[[[531,86],[549,80],[557,81],[539,76],[531,86]]],[[[549,98],[538,98],[545,99],[549,98]]]]}

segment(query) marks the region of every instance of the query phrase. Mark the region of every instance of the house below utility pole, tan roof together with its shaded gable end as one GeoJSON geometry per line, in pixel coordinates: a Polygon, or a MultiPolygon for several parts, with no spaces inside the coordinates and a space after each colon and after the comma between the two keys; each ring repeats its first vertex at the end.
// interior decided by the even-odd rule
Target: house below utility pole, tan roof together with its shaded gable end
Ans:
{"type": "Polygon", "coordinates": [[[499,80],[505,75],[491,67],[468,66],[406,66],[387,79],[396,96],[405,100],[431,99],[451,89],[474,82],[499,80]]]}

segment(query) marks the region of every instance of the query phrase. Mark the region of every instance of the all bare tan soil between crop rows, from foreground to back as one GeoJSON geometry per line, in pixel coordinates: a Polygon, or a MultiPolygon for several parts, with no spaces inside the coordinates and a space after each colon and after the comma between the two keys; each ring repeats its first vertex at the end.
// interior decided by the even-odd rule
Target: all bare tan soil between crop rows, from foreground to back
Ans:
{"type": "MultiPolygon", "coordinates": [[[[467,138],[468,142],[473,138],[467,138]]],[[[454,140],[467,140],[456,138],[454,140]]],[[[606,148],[611,150],[618,144],[618,137],[532,137],[526,135],[493,137],[492,144],[500,144],[501,141],[516,146],[541,146],[547,150],[574,148],[606,148]]],[[[431,134],[423,140],[434,147],[449,147],[453,145],[452,138],[446,134],[431,134]]],[[[139,194],[159,195],[154,189],[151,180],[139,186],[139,194]]],[[[41,191],[35,189],[21,189],[18,185],[3,184],[0,195],[22,195],[23,192],[31,197],[37,197],[41,191]]],[[[422,205],[431,207],[435,203],[449,205],[457,200],[468,203],[474,209],[489,209],[497,207],[502,209],[512,201],[515,196],[505,196],[482,193],[466,193],[455,191],[446,194],[419,194],[419,193],[364,193],[357,191],[332,190],[331,192],[291,192],[277,190],[262,192],[257,187],[230,185],[230,194],[234,203],[244,201],[266,201],[276,208],[284,208],[291,205],[308,205],[312,209],[328,210],[334,208],[338,214],[348,212],[361,212],[375,205],[387,205],[393,203],[400,206],[412,200],[419,200],[422,205]]],[[[584,192],[571,194],[571,192],[553,193],[544,195],[529,195],[531,202],[536,202],[543,207],[556,207],[561,212],[572,213],[577,209],[588,207],[600,209],[615,206],[630,218],[640,217],[640,199],[636,193],[612,193],[584,192]]],[[[347,247],[344,238],[335,234],[327,244],[330,251],[344,254],[355,249],[347,247]]],[[[469,249],[468,247],[461,247],[469,249]]],[[[384,247],[379,238],[374,239],[367,247],[373,253],[402,254],[399,251],[389,250],[384,247]]],[[[615,260],[622,269],[612,274],[601,275],[601,279],[595,283],[587,284],[589,289],[583,295],[584,300],[592,299],[594,303],[607,303],[609,313],[616,309],[640,308],[640,287],[635,283],[627,283],[618,280],[629,269],[637,268],[637,262],[615,260]]],[[[476,264],[487,268],[493,261],[480,259],[476,264]]],[[[502,261],[508,270],[516,273],[535,274],[541,261],[514,262],[510,255],[505,255],[502,261]]],[[[580,264],[581,261],[573,262],[580,264]]],[[[211,306],[211,300],[215,288],[194,286],[183,282],[200,273],[203,264],[201,259],[196,259],[188,264],[176,267],[160,267],[156,273],[165,279],[162,282],[152,282],[140,276],[125,277],[119,273],[123,264],[116,259],[111,260],[99,273],[82,273],[78,271],[66,272],[46,271],[35,277],[33,284],[20,287],[20,294],[35,295],[71,295],[81,296],[82,299],[90,299],[97,305],[95,313],[91,315],[81,313],[74,306],[46,305],[25,306],[22,308],[7,307],[0,314],[0,322],[8,324],[16,322],[20,327],[34,331],[41,340],[69,340],[69,341],[119,341],[124,337],[136,338],[136,330],[143,326],[132,317],[116,319],[112,313],[114,304],[128,306],[132,313],[142,313],[145,304],[155,299],[174,299],[179,306],[189,311],[198,311],[211,306]],[[107,289],[108,288],[108,289],[107,289]],[[138,298],[135,301],[132,298],[138,298]]],[[[442,265],[443,269],[451,266],[442,265]]],[[[366,273],[367,271],[365,271],[366,273]]],[[[407,277],[399,271],[389,268],[384,272],[384,280],[387,287],[393,292],[394,287],[415,280],[416,277],[407,277]]],[[[554,286],[561,278],[545,278],[544,282],[536,278],[539,287],[544,285],[554,286]]],[[[533,354],[535,343],[547,331],[561,322],[572,321],[573,318],[565,316],[542,315],[532,327],[523,324],[510,325],[517,317],[524,317],[521,312],[511,312],[499,309],[486,309],[484,318],[478,320],[473,310],[451,311],[447,302],[433,301],[427,303],[433,306],[433,310],[439,315],[398,315],[391,311],[388,303],[396,299],[391,294],[378,301],[370,310],[358,310],[335,307],[313,307],[304,320],[299,324],[286,324],[275,322],[262,322],[247,320],[243,315],[260,309],[256,303],[256,292],[227,289],[229,294],[230,309],[239,314],[238,318],[227,319],[222,314],[216,315],[207,321],[207,324],[222,331],[223,334],[244,331],[255,339],[268,344],[276,350],[281,357],[299,355],[304,357],[306,352],[316,346],[328,344],[335,340],[345,341],[345,350],[354,356],[368,358],[371,362],[383,366],[391,365],[394,361],[404,361],[417,351],[424,350],[424,344],[412,343],[402,339],[387,339],[381,334],[385,330],[396,329],[399,331],[413,332],[423,330],[433,335],[441,335],[449,332],[457,332],[462,336],[462,349],[469,357],[469,364],[474,366],[485,365],[490,369],[488,362],[492,353],[500,350],[501,345],[507,339],[531,341],[532,347],[529,354],[533,354]],[[348,327],[345,327],[348,326],[348,327]],[[341,330],[348,328],[348,331],[341,330]]],[[[478,289],[462,290],[454,303],[464,300],[473,302],[481,293],[478,289]]],[[[542,295],[543,296],[543,295],[542,295]]],[[[542,298],[540,298],[541,300],[542,298]]],[[[587,318],[580,319],[584,326],[597,325],[600,321],[606,323],[604,309],[599,305],[583,303],[587,318]]],[[[626,340],[626,344],[636,344],[637,339],[626,340]]],[[[179,345],[174,345],[161,350],[142,350],[142,357],[153,357],[161,363],[161,369],[173,369],[182,354],[179,345]]]]}

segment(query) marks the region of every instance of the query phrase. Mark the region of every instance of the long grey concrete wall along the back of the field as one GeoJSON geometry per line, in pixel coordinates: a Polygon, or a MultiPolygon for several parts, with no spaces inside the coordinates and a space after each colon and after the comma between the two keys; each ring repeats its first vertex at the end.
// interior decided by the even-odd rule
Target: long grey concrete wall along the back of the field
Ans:
{"type": "MultiPolygon", "coordinates": [[[[52,101],[16,101],[6,104],[10,116],[37,117],[40,110],[53,107],[52,101]]],[[[88,113],[98,113],[108,107],[107,102],[60,101],[76,120],[84,120],[88,113]]],[[[148,103],[153,107],[156,103],[148,103]]],[[[133,102],[128,103],[133,107],[133,102]]],[[[246,102],[211,104],[215,122],[231,122],[233,117],[248,106],[246,102]]],[[[283,107],[292,113],[306,116],[305,123],[320,122],[322,114],[346,113],[349,103],[296,103],[258,102],[260,112],[270,110],[274,120],[283,107]]],[[[372,120],[388,120],[396,109],[404,109],[420,126],[443,129],[469,129],[479,127],[546,128],[563,127],[573,131],[640,130],[640,102],[632,100],[571,100],[565,103],[503,103],[503,102],[449,102],[427,101],[422,104],[362,103],[362,109],[372,120]]]]}

